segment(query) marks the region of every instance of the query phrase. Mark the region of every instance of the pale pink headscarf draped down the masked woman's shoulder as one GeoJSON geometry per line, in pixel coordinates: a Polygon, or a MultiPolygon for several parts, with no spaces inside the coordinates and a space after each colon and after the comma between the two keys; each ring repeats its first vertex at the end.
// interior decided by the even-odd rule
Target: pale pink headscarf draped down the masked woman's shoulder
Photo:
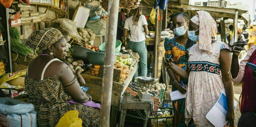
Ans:
{"type": "Polygon", "coordinates": [[[212,37],[217,34],[215,20],[205,11],[197,11],[190,20],[199,26],[199,49],[212,52],[212,37]]]}

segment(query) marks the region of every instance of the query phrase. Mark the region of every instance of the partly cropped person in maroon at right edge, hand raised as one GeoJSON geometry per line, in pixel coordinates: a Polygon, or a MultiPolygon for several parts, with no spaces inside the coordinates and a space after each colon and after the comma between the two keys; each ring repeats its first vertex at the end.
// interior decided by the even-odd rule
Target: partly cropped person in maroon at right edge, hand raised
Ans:
{"type": "Polygon", "coordinates": [[[247,62],[256,64],[256,45],[253,45],[247,52],[246,57],[240,62],[238,61],[239,53],[245,50],[248,40],[238,41],[232,45],[232,63],[230,77],[235,84],[243,85],[242,93],[239,98],[241,118],[238,127],[253,127],[256,125],[256,80],[255,71],[252,71],[247,62]]]}

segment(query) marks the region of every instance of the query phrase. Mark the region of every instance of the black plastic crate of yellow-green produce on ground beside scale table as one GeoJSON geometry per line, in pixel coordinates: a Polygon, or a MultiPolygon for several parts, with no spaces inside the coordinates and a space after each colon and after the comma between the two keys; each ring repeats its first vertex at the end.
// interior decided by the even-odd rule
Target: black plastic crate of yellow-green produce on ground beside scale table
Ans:
{"type": "Polygon", "coordinates": [[[167,111],[168,113],[170,113],[171,116],[158,117],[158,116],[161,116],[160,114],[157,114],[158,112],[164,113],[165,111],[150,112],[149,116],[151,118],[148,118],[148,126],[149,127],[173,127],[173,111],[172,110],[167,110],[167,111]]]}

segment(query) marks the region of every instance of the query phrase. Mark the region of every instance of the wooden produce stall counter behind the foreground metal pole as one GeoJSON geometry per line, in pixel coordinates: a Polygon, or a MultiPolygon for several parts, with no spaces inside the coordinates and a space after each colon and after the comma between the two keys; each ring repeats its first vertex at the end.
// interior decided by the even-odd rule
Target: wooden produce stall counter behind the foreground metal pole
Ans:
{"type": "MultiPolygon", "coordinates": [[[[113,74],[113,87],[112,87],[112,99],[111,99],[111,106],[113,107],[111,109],[111,118],[110,118],[110,127],[114,127],[116,124],[116,117],[117,117],[117,107],[119,107],[120,104],[120,98],[125,92],[126,88],[129,86],[130,82],[132,81],[132,77],[134,76],[136,72],[138,63],[135,63],[134,69],[129,72],[129,77],[124,80],[124,83],[119,83],[120,74],[121,71],[118,69],[114,69],[113,74]]],[[[84,78],[86,82],[86,86],[89,87],[89,89],[86,91],[86,93],[90,94],[92,96],[92,99],[94,101],[101,102],[101,90],[102,90],[102,80],[103,80],[103,66],[100,66],[99,69],[99,75],[92,76],[89,74],[81,74],[81,76],[84,78]]]]}

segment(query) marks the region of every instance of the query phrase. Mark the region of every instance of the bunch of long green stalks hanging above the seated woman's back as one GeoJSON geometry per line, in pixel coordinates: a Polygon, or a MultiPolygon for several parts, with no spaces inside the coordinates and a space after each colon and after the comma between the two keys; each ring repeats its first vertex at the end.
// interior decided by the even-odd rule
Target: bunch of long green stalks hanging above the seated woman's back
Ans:
{"type": "Polygon", "coordinates": [[[11,49],[20,55],[35,58],[36,56],[34,55],[34,51],[21,44],[20,31],[15,27],[10,27],[9,31],[11,39],[11,49]]]}

